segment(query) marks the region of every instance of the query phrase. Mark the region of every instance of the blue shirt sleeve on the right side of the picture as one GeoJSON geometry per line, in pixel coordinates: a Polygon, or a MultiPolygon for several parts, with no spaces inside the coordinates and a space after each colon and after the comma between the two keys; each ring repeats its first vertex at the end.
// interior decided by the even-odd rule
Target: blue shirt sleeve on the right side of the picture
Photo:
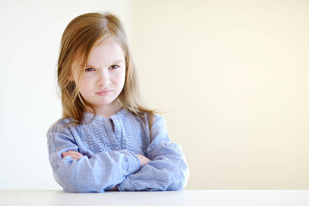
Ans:
{"type": "Polygon", "coordinates": [[[165,119],[156,115],[152,126],[153,140],[147,147],[151,160],[118,185],[119,191],[180,190],[187,184],[189,168],[179,144],[170,141],[165,119]]]}

